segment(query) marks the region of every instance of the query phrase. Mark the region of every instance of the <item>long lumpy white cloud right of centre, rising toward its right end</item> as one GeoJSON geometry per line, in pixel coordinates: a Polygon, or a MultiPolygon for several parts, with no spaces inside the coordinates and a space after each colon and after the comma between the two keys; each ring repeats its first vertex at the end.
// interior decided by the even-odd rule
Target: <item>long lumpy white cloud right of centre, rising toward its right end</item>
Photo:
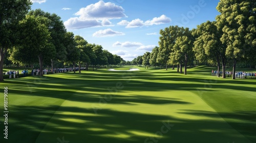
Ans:
{"type": "Polygon", "coordinates": [[[160,17],[154,17],[152,20],[143,21],[139,18],[132,20],[131,22],[127,20],[122,20],[117,23],[117,25],[126,26],[125,28],[136,28],[143,26],[152,26],[152,25],[161,25],[163,23],[169,23],[172,19],[165,15],[161,15],[160,17]]]}

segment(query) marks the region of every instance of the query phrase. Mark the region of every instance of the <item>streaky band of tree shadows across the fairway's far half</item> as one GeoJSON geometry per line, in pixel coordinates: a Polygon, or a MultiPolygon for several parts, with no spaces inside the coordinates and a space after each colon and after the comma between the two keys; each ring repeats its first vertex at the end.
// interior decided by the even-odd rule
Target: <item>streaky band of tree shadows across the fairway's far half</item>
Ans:
{"type": "MultiPolygon", "coordinates": [[[[75,75],[75,79],[61,79],[58,77],[47,77],[45,79],[35,78],[22,79],[19,81],[10,80],[6,83],[12,87],[12,92],[16,94],[31,94],[34,96],[43,96],[51,98],[66,99],[65,94],[73,94],[76,91],[82,91],[85,95],[91,93],[104,94],[116,94],[116,92],[127,91],[165,91],[165,90],[183,90],[183,91],[216,91],[221,89],[235,89],[241,91],[256,91],[253,87],[230,85],[226,81],[215,81],[216,83],[206,83],[198,78],[178,78],[178,77],[166,77],[161,78],[152,77],[150,74],[143,74],[144,76],[120,78],[118,80],[103,80],[98,81],[87,80],[79,78],[79,75],[75,75]],[[150,80],[147,80],[148,78],[150,80]],[[174,82],[176,81],[176,82],[174,82]],[[222,84],[220,84],[222,83],[222,84]],[[23,85],[21,87],[15,87],[15,85],[23,85]],[[118,86],[117,86],[118,85],[118,86]],[[121,87],[121,88],[120,88],[121,87]],[[65,94],[63,94],[65,92],[65,94]],[[64,96],[63,96],[64,95],[64,96]]],[[[83,75],[86,76],[86,75],[83,75]]],[[[111,78],[111,77],[108,77],[111,78]]],[[[241,85],[252,84],[250,82],[238,82],[241,85]]]]}

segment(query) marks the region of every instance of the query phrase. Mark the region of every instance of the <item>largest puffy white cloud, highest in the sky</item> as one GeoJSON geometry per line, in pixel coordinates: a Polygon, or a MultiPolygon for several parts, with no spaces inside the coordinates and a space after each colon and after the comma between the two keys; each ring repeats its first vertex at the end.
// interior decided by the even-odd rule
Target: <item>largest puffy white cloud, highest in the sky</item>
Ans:
{"type": "Polygon", "coordinates": [[[124,9],[114,3],[104,3],[99,1],[98,3],[91,4],[86,8],[81,8],[75,15],[80,19],[117,19],[126,17],[124,9]]]}

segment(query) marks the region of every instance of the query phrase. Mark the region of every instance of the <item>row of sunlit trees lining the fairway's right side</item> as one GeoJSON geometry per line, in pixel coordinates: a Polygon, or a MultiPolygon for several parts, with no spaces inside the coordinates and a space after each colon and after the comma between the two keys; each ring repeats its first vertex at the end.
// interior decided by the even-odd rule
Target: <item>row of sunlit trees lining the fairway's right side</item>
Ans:
{"type": "MultiPolygon", "coordinates": [[[[221,0],[217,6],[221,13],[216,21],[206,21],[197,29],[170,26],[160,30],[159,47],[146,52],[133,61],[143,65],[178,65],[184,74],[188,63],[217,64],[222,66],[226,78],[226,63],[232,62],[236,73],[238,62],[256,65],[256,2],[221,0]]],[[[173,69],[174,69],[173,66],[173,69]]],[[[220,75],[218,75],[220,77],[220,75]]],[[[232,79],[235,79],[233,74],[232,79]]]]}

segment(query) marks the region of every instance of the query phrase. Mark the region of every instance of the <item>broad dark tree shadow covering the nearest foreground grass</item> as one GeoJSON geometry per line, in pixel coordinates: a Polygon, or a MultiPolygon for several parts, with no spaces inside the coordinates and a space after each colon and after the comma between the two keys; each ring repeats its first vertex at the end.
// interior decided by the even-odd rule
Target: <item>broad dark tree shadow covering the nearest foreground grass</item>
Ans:
{"type": "Polygon", "coordinates": [[[67,141],[78,143],[250,142],[234,132],[226,122],[220,121],[220,116],[215,112],[186,111],[185,113],[212,118],[212,120],[190,120],[175,118],[170,112],[159,115],[102,109],[100,113],[94,114],[87,108],[57,108],[56,106],[13,107],[8,141],[56,143],[57,138],[62,140],[64,137],[67,141]]]}

